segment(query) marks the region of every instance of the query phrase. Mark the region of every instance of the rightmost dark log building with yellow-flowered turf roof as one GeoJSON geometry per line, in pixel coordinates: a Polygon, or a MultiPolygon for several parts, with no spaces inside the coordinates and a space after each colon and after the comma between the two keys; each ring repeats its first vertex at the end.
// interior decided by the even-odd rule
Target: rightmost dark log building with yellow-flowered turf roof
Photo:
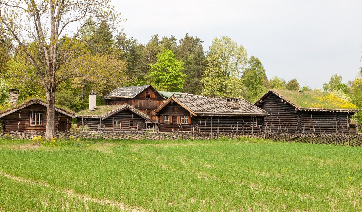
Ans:
{"type": "Polygon", "coordinates": [[[319,90],[269,90],[255,103],[267,111],[264,131],[278,133],[348,133],[358,107],[319,90]]]}

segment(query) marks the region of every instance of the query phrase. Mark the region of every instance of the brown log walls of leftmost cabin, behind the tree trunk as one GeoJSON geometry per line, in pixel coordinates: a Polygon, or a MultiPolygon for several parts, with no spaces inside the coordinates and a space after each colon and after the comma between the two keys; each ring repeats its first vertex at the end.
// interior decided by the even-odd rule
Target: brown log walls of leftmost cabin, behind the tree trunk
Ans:
{"type": "MultiPolygon", "coordinates": [[[[1,131],[45,131],[46,130],[46,114],[47,108],[40,104],[32,104],[23,109],[20,109],[12,114],[6,115],[1,119],[1,131]],[[30,125],[30,113],[42,113],[42,125],[30,125]],[[19,122],[20,118],[20,122],[19,122]],[[18,128],[19,126],[19,128],[18,128]]],[[[55,113],[55,131],[58,131],[59,124],[64,126],[59,127],[60,129],[70,130],[72,118],[61,114],[55,113]]]]}

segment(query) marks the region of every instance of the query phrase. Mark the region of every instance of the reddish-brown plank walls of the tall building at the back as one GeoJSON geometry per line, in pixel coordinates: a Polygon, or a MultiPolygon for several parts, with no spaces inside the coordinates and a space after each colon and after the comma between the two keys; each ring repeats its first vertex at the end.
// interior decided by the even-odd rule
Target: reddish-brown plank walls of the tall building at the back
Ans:
{"type": "Polygon", "coordinates": [[[157,122],[158,116],[152,115],[157,107],[159,107],[164,101],[164,98],[156,93],[153,89],[146,88],[134,98],[112,98],[104,99],[104,105],[131,105],[142,113],[150,116],[151,122],[157,122]]]}

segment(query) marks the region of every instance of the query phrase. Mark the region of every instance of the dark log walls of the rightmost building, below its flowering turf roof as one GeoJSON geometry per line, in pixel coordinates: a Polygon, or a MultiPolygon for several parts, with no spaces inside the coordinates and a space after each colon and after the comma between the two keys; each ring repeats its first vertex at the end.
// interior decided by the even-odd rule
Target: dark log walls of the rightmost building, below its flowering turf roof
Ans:
{"type": "Polygon", "coordinates": [[[297,111],[295,107],[271,94],[258,105],[270,114],[262,131],[275,133],[347,133],[353,113],[297,111]]]}

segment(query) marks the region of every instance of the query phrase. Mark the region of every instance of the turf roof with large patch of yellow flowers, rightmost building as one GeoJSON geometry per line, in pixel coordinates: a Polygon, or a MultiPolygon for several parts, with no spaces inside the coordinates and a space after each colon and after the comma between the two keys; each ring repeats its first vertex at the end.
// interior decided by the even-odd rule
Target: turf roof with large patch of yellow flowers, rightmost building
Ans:
{"type": "MultiPolygon", "coordinates": [[[[334,94],[320,90],[312,92],[300,92],[298,90],[270,90],[282,97],[299,109],[324,109],[324,110],[358,110],[358,107],[350,102],[338,98],[334,94]]],[[[268,92],[269,93],[269,92],[268,92]]]]}

